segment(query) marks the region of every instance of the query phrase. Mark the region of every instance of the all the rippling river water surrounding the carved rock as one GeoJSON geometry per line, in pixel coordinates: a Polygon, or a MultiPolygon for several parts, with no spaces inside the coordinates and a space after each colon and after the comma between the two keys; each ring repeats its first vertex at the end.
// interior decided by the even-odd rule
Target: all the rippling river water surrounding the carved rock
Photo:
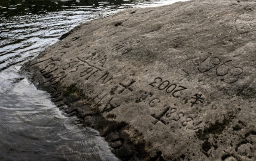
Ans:
{"type": "Polygon", "coordinates": [[[98,131],[59,110],[21,67],[81,23],[176,1],[0,0],[0,161],[118,161],[98,131]]]}

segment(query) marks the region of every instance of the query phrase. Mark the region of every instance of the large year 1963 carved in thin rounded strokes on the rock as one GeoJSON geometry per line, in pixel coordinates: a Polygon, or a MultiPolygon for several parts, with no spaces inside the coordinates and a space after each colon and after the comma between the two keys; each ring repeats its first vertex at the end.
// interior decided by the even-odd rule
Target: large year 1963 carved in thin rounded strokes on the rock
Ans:
{"type": "Polygon", "coordinates": [[[243,73],[241,67],[229,65],[232,60],[227,60],[222,63],[218,57],[213,57],[211,53],[208,54],[209,56],[198,64],[198,72],[204,73],[215,69],[216,75],[223,77],[223,82],[232,84],[238,81],[238,76],[243,73]]]}

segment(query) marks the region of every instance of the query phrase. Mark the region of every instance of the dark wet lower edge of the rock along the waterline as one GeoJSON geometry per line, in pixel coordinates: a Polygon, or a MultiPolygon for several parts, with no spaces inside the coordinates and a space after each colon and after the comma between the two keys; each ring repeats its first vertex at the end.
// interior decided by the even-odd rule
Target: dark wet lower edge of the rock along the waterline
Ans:
{"type": "MultiPolygon", "coordinates": [[[[39,55],[37,58],[42,57],[39,55]]],[[[36,59],[37,59],[36,58],[36,59]]],[[[31,61],[24,64],[22,72],[27,75],[28,80],[37,89],[48,92],[52,97],[52,102],[60,109],[65,110],[68,116],[74,116],[81,120],[86,127],[91,127],[99,131],[101,137],[105,137],[111,151],[122,161],[163,161],[161,151],[154,150],[151,145],[147,145],[143,139],[143,134],[136,129],[136,138],[131,138],[125,131],[129,131],[131,126],[127,122],[110,121],[104,118],[100,110],[92,110],[90,104],[79,104],[79,100],[89,100],[83,95],[82,90],[72,84],[61,86],[60,83],[45,82],[45,78],[40,73],[40,68],[31,66],[31,61]],[[147,149],[147,150],[146,150],[147,149]],[[149,153],[150,149],[150,153],[149,153]]],[[[49,80],[52,75],[49,76],[49,80]]],[[[89,101],[88,101],[89,102],[89,101]]],[[[108,115],[107,117],[115,117],[108,115]]],[[[134,129],[132,129],[134,130],[134,129]]]]}

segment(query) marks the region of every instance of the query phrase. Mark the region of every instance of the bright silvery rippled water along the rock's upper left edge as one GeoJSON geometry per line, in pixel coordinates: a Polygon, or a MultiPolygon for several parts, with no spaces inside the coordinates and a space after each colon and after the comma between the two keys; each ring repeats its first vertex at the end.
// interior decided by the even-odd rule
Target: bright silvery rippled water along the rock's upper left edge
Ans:
{"type": "MultiPolygon", "coordinates": [[[[33,4],[38,2],[38,5],[40,3],[45,4],[46,2],[49,2],[49,0],[30,1],[33,2],[33,4]]],[[[0,72],[10,66],[33,59],[41,51],[55,44],[62,34],[86,21],[94,18],[105,17],[135,6],[160,6],[163,4],[173,3],[175,1],[177,0],[141,0],[134,1],[129,4],[125,1],[124,4],[119,5],[106,4],[107,6],[98,7],[73,6],[72,9],[55,9],[55,12],[46,12],[44,14],[21,16],[19,15],[19,12],[17,12],[16,15],[12,17],[0,16],[0,72]]],[[[8,2],[12,1],[8,0],[8,2]]],[[[68,0],[67,2],[71,5],[71,3],[74,3],[74,0],[68,0]]],[[[97,1],[97,4],[98,3],[106,2],[97,1]]],[[[7,3],[0,3],[0,6],[4,6],[3,4],[7,3]]],[[[4,9],[9,8],[6,7],[4,9]]],[[[0,12],[3,12],[3,9],[0,9],[0,12]]],[[[11,12],[7,13],[9,14],[11,12]]]]}

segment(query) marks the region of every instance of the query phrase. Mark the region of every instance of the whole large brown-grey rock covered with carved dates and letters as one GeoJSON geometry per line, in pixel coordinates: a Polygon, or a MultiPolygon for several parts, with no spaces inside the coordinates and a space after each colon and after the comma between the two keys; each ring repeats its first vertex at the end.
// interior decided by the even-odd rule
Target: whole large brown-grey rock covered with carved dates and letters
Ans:
{"type": "Polygon", "coordinates": [[[255,161],[255,46],[256,0],[192,0],[82,24],[26,69],[122,160],[255,161]]]}

